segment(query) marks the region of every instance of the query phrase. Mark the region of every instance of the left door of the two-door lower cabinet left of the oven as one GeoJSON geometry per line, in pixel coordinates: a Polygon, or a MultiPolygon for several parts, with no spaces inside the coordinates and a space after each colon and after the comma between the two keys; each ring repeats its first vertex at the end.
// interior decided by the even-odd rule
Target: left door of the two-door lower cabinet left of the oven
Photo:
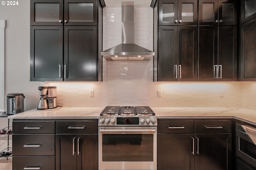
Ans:
{"type": "Polygon", "coordinates": [[[76,135],[56,135],[56,170],[77,169],[76,135]]]}

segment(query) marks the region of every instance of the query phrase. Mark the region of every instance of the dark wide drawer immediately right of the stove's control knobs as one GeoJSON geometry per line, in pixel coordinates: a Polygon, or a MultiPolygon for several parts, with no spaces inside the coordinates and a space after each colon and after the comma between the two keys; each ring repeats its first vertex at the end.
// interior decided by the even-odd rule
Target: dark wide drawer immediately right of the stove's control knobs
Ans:
{"type": "Polygon", "coordinates": [[[158,121],[158,133],[194,133],[194,121],[158,121]]]}

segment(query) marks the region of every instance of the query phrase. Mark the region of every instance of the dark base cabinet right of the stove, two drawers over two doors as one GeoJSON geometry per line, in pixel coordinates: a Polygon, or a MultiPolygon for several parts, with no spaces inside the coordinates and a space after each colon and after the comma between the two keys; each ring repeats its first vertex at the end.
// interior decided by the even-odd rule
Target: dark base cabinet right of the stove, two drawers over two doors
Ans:
{"type": "Polygon", "coordinates": [[[158,119],[158,170],[232,170],[229,120],[158,119]]]}

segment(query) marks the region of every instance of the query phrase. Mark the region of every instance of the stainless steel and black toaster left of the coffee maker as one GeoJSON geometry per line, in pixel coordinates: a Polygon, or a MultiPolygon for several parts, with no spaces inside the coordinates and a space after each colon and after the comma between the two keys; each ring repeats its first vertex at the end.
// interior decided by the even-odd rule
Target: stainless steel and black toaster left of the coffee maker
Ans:
{"type": "Polygon", "coordinates": [[[6,114],[13,115],[24,111],[24,94],[12,93],[6,96],[6,114]]]}

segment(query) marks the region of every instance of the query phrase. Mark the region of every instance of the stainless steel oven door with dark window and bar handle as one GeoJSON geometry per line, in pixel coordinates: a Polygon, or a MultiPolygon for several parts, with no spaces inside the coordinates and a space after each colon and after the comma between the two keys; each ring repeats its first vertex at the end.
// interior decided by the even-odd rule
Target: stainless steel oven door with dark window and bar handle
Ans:
{"type": "Polygon", "coordinates": [[[99,170],[156,170],[157,127],[99,127],[99,170]]]}

